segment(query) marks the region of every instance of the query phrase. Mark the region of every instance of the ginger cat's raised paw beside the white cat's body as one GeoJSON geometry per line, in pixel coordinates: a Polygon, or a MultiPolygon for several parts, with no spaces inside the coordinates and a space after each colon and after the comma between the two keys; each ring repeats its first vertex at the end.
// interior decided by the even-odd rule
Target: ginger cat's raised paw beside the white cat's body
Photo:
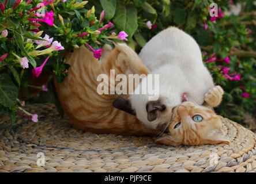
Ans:
{"type": "Polygon", "coordinates": [[[214,86],[213,89],[205,94],[205,102],[212,107],[218,106],[220,105],[223,93],[224,91],[220,86],[214,86]]]}

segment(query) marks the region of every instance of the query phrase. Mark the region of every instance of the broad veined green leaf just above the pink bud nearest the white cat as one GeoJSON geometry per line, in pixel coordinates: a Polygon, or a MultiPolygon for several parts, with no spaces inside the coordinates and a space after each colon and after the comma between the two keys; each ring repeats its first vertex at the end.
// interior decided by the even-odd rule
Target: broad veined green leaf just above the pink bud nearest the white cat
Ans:
{"type": "Polygon", "coordinates": [[[131,4],[125,6],[118,1],[113,22],[116,28],[124,30],[129,37],[133,36],[138,28],[136,7],[131,4]]]}

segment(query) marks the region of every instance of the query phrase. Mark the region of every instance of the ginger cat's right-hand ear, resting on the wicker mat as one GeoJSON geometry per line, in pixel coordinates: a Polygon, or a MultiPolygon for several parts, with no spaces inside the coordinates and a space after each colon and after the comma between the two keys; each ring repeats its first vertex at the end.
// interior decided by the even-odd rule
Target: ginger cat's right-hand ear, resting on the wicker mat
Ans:
{"type": "Polygon", "coordinates": [[[229,140],[225,137],[225,133],[222,129],[214,129],[212,132],[210,132],[207,139],[204,141],[204,144],[220,143],[229,144],[229,140]]]}

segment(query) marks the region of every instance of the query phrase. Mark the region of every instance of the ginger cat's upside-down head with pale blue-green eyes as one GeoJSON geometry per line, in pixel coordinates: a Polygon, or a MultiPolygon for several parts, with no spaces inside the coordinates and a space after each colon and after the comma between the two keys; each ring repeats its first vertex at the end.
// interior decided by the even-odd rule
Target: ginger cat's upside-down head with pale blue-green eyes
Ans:
{"type": "Polygon", "coordinates": [[[168,133],[157,144],[199,145],[229,143],[219,116],[204,106],[183,102],[174,109],[168,133]]]}

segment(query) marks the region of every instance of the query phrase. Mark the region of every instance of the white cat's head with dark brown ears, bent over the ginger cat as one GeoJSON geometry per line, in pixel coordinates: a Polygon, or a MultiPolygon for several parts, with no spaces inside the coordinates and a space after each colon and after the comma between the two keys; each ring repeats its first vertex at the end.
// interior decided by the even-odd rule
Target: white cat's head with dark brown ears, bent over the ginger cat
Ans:
{"type": "Polygon", "coordinates": [[[168,85],[163,85],[166,87],[161,87],[157,95],[150,93],[143,94],[142,89],[145,86],[142,84],[146,81],[145,79],[146,78],[137,86],[133,94],[130,94],[129,99],[118,97],[113,102],[113,106],[133,114],[138,120],[143,122],[146,127],[162,131],[170,120],[174,107],[179,105],[182,99],[179,93],[172,93],[168,85]],[[140,93],[136,94],[137,90],[139,90],[140,93]]]}

